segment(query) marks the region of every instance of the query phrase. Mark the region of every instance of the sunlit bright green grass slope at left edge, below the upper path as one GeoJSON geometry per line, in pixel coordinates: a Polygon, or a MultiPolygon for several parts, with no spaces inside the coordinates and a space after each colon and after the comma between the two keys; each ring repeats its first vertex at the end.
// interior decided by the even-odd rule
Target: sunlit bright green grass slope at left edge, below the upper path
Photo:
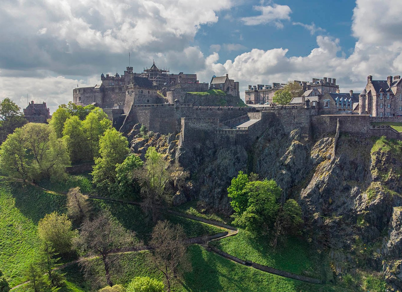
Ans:
{"type": "Polygon", "coordinates": [[[45,214],[64,211],[65,197],[0,178],[0,269],[10,286],[23,282],[23,271],[37,259],[37,223],[45,214]]]}

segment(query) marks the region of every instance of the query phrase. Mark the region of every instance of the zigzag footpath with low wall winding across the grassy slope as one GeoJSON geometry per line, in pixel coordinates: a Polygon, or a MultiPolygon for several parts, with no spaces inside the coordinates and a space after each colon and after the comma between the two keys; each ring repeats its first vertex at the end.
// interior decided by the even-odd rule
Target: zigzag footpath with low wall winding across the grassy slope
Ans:
{"type": "MultiPolygon", "coordinates": [[[[41,188],[42,190],[52,193],[52,194],[59,194],[59,195],[66,195],[66,193],[60,193],[60,192],[54,192],[51,190],[47,190],[45,188],[42,188],[41,186],[35,185],[39,188],[41,188]]],[[[105,201],[112,201],[112,202],[119,202],[122,204],[129,204],[129,205],[137,205],[139,206],[140,203],[139,202],[135,202],[135,201],[125,201],[125,200],[119,200],[119,199],[114,199],[114,198],[107,198],[107,197],[100,197],[100,196],[88,196],[91,199],[96,199],[96,200],[105,200],[105,201]]],[[[198,222],[202,222],[214,227],[217,227],[219,229],[221,229],[223,232],[222,233],[217,233],[215,235],[205,235],[205,236],[200,236],[200,237],[193,237],[193,238],[188,238],[186,239],[186,243],[188,244],[200,244],[200,245],[206,245],[207,246],[207,250],[209,251],[213,251],[214,253],[226,258],[226,259],[230,259],[231,261],[234,261],[236,263],[240,263],[242,265],[248,266],[248,267],[253,267],[254,269],[269,273],[269,274],[274,274],[274,275],[278,275],[278,276],[282,276],[285,278],[289,278],[289,279],[293,279],[293,280],[299,280],[299,281],[303,281],[303,282],[308,282],[308,283],[312,283],[312,284],[325,284],[324,281],[322,280],[318,280],[316,278],[311,278],[311,277],[307,277],[307,276],[301,276],[298,274],[293,274],[290,272],[285,272],[282,270],[277,270],[274,269],[273,267],[268,267],[265,265],[261,265],[259,263],[254,263],[252,261],[245,261],[242,260],[238,257],[234,257],[233,255],[230,255],[228,253],[225,253],[224,251],[221,251],[220,249],[217,249],[215,246],[211,245],[211,241],[217,241],[220,239],[223,239],[225,237],[229,237],[229,236],[233,236],[236,235],[239,231],[236,227],[221,223],[221,222],[217,222],[217,221],[212,221],[212,220],[208,220],[205,218],[201,218],[201,217],[197,217],[197,216],[193,216],[193,215],[189,215],[189,214],[185,214],[182,212],[177,212],[174,210],[165,210],[164,212],[168,213],[168,214],[172,214],[175,216],[180,216],[180,217],[184,217],[184,218],[188,218],[194,221],[198,221],[198,222]]],[[[148,246],[144,246],[144,247],[136,247],[136,248],[130,248],[130,249],[125,249],[125,250],[120,250],[120,251],[116,251],[116,253],[121,253],[121,252],[133,252],[133,251],[144,251],[144,250],[150,250],[150,247],[148,246]]],[[[64,265],[61,265],[60,267],[57,267],[57,269],[61,269],[63,267],[72,265],[74,263],[77,263],[78,260],[76,261],[71,261],[69,263],[65,263],[64,265]]],[[[20,286],[23,286],[25,284],[28,284],[29,281],[18,284],[17,286],[14,286],[13,288],[10,289],[14,290],[20,286]]]]}

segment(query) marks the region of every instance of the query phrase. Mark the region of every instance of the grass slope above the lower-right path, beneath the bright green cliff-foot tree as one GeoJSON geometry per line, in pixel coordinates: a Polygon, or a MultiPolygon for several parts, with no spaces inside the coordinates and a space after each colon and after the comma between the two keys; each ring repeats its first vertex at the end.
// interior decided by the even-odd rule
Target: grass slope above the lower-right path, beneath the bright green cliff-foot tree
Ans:
{"type": "Polygon", "coordinates": [[[279,245],[277,249],[273,249],[268,237],[253,237],[249,232],[240,229],[237,235],[213,241],[213,244],[240,259],[299,275],[325,278],[321,272],[324,261],[320,254],[296,237],[290,237],[285,246],[279,245]]]}

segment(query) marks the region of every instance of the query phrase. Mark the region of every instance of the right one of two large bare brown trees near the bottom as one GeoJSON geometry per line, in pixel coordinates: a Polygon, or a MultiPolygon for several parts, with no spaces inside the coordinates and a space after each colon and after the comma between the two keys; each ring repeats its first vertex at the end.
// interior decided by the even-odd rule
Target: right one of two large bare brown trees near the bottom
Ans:
{"type": "Polygon", "coordinates": [[[186,257],[185,233],[181,225],[172,225],[169,221],[158,221],[152,231],[150,257],[156,268],[165,276],[167,291],[182,270],[191,270],[191,263],[186,257]]]}

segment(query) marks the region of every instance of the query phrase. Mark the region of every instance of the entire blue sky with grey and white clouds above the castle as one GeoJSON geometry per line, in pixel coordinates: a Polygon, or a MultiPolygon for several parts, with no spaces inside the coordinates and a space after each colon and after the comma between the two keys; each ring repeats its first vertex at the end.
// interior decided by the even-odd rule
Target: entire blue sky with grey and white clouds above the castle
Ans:
{"type": "Polygon", "coordinates": [[[402,73],[400,0],[2,0],[0,98],[51,111],[100,74],[152,65],[248,84],[402,73]]]}

